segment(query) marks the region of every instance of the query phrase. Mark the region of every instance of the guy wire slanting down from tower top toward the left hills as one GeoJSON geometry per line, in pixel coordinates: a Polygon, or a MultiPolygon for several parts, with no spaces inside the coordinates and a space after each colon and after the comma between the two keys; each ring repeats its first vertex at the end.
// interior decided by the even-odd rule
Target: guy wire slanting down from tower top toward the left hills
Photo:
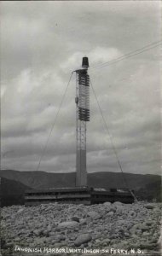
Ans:
{"type": "MultiPolygon", "coordinates": [[[[73,72],[72,72],[72,73],[73,73],[73,72]]],[[[64,99],[65,99],[65,96],[66,96],[66,94],[67,94],[68,86],[69,86],[70,81],[71,81],[71,79],[72,79],[72,73],[71,73],[70,79],[69,79],[69,81],[68,81],[68,83],[67,83],[66,90],[65,90],[65,92],[64,92],[64,94],[63,94],[63,96],[62,96],[60,106],[59,106],[59,108],[58,108],[58,110],[57,110],[57,113],[56,113],[56,115],[55,115],[54,123],[53,123],[53,125],[51,126],[51,129],[50,129],[50,131],[49,131],[49,135],[48,135],[48,137],[47,137],[46,143],[44,144],[44,147],[43,147],[43,151],[42,151],[40,160],[38,161],[37,171],[38,171],[38,169],[39,169],[39,167],[40,167],[41,161],[43,160],[43,156],[44,156],[44,154],[45,154],[45,151],[46,151],[47,146],[48,146],[48,143],[49,143],[49,137],[51,136],[52,131],[53,131],[53,129],[54,129],[56,119],[57,119],[57,117],[58,117],[58,115],[59,115],[59,113],[60,113],[60,111],[61,111],[62,103],[63,103],[63,101],[64,101],[64,99]]]]}

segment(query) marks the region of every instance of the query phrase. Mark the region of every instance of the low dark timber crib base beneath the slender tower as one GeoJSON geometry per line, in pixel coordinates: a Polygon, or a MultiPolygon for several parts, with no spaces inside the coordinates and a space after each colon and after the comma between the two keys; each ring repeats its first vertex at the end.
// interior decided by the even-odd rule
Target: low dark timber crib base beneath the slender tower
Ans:
{"type": "Polygon", "coordinates": [[[53,202],[72,204],[99,204],[106,201],[132,203],[134,198],[128,189],[93,189],[88,187],[27,190],[26,207],[53,202]]]}

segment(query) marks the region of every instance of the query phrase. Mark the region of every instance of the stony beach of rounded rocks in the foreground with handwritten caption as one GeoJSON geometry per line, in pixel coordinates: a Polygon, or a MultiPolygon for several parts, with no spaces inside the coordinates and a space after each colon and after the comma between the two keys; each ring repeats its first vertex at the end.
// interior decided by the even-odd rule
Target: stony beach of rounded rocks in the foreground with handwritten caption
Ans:
{"type": "Polygon", "coordinates": [[[3,207],[2,255],[161,255],[161,208],[144,202],[3,207]]]}

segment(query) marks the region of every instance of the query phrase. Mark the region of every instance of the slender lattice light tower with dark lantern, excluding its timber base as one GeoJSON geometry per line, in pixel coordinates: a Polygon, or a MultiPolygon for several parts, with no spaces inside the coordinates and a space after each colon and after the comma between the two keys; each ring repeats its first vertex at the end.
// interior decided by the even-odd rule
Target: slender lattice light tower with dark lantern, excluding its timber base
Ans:
{"type": "Polygon", "coordinates": [[[90,121],[89,59],[83,58],[82,68],[76,70],[76,186],[87,186],[86,122],[90,121]]]}

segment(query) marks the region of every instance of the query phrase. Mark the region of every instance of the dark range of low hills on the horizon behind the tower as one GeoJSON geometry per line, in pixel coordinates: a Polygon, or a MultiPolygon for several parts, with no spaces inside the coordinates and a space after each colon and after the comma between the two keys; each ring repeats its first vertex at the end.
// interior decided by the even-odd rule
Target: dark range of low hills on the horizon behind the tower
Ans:
{"type": "MultiPolygon", "coordinates": [[[[23,183],[32,189],[49,189],[75,186],[75,173],[0,171],[0,177],[23,183]]],[[[130,189],[134,189],[142,199],[160,201],[161,177],[158,175],[124,173],[130,189]],[[149,192],[149,193],[148,193],[149,192]],[[149,196],[148,196],[149,194],[149,196]],[[148,197],[147,197],[148,196],[148,197]]],[[[88,186],[95,188],[125,188],[120,172],[93,172],[88,174],[88,186]]]]}

